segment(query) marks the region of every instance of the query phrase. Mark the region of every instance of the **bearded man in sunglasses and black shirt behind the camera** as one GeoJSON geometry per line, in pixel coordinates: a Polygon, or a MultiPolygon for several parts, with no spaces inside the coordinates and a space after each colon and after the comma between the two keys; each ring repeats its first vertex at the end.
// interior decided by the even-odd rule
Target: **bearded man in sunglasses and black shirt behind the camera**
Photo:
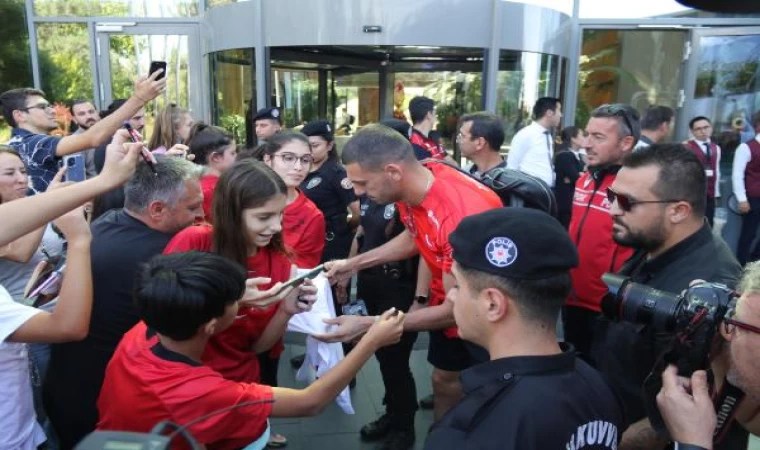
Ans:
{"type": "MultiPolygon", "coordinates": [[[[706,186],[704,166],[681,144],[654,144],[628,155],[606,190],[612,237],[635,249],[618,274],[674,294],[696,279],[733,287],[741,267],[705,220],[706,186]]],[[[607,320],[596,324],[591,357],[617,389],[630,424],[621,450],[662,449],[667,444],[646,418],[642,384],[672,337],[650,326],[607,320]]],[[[746,432],[736,426],[715,449],[746,448],[746,439],[746,432]]]]}

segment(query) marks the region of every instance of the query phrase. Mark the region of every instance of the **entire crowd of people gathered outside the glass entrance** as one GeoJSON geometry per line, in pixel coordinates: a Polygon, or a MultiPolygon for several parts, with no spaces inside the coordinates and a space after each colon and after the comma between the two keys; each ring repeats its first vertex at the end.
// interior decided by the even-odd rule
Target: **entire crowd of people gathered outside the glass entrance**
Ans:
{"type": "Polygon", "coordinates": [[[464,168],[425,97],[411,124],[365,125],[340,155],[332,123],[286,130],[276,107],[249,114],[248,146],[173,104],[132,142],[124,123],[144,131],[159,74],[102,113],[73,101],[65,137],[49,135],[43,92],[0,95],[13,128],[0,146],[0,448],[68,450],[162,421],[190,424],[208,449],[284,447],[268,419],[318,414],[372,355],[386,412],[360,435],[382,449],[415,445],[420,406],[433,409],[430,449],[744,449],[760,432],[760,113],[757,137],[732,149],[734,254],[712,229],[725,156],[707,117],[684,142],[664,106],[602,105],[560,129],[561,102],[545,97],[504,156],[502,120],[473,112],[456,135],[464,168]],[[510,174],[551,190],[557,210],[504,207],[510,174]],[[318,294],[286,282],[319,264],[339,314],[314,337],[346,356],[305,389],[281,387],[287,324],[318,294]],[[642,385],[673,333],[603,315],[608,272],[741,294],[710,382],[662,374],[667,430],[642,385]],[[348,303],[366,313],[340,314],[348,303]],[[422,400],[409,367],[420,332],[433,367],[422,400]],[[708,391],[727,387],[742,400],[713,436],[708,391]]]}

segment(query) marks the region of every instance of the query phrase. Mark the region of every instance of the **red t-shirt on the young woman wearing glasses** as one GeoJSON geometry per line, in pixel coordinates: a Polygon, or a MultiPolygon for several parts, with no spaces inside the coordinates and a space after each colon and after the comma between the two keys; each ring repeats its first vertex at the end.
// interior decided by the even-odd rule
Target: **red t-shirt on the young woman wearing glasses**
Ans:
{"type": "Polygon", "coordinates": [[[311,269],[319,265],[325,248],[325,216],[300,190],[283,211],[282,238],[298,267],[311,269]]]}

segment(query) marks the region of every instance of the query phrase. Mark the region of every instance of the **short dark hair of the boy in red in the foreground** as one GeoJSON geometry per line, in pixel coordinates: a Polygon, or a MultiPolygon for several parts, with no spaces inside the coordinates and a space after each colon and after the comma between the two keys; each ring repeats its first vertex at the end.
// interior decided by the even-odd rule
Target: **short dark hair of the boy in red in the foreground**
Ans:
{"type": "Polygon", "coordinates": [[[135,306],[148,327],[185,341],[243,296],[245,280],[242,266],[213,253],[159,255],[138,274],[135,306]]]}

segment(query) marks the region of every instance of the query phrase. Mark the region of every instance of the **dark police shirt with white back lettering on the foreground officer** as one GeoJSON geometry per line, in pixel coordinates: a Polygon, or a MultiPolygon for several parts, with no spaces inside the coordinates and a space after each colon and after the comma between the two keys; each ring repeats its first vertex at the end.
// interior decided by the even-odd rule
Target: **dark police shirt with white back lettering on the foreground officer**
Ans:
{"type": "Polygon", "coordinates": [[[465,398],[430,431],[425,448],[616,449],[625,423],[604,379],[571,346],[462,372],[465,398]]]}

